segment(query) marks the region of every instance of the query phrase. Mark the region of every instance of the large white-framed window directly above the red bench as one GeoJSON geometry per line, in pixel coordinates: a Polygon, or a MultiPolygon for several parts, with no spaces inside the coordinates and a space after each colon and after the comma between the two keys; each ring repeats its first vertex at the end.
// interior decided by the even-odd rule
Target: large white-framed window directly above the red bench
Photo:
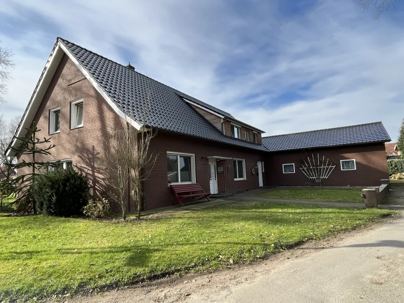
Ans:
{"type": "Polygon", "coordinates": [[[169,183],[196,183],[195,172],[195,155],[167,152],[167,179],[169,183]]]}

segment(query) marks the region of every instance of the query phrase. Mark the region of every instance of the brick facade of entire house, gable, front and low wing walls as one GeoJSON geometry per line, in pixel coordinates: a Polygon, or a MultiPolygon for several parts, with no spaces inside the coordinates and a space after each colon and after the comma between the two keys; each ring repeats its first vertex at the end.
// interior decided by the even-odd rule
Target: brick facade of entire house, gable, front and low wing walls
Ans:
{"type": "MultiPolygon", "coordinates": [[[[90,180],[92,193],[106,196],[106,176],[102,170],[104,138],[111,129],[120,129],[124,122],[96,91],[70,59],[64,55],[54,78],[42,99],[34,121],[38,137],[51,137],[56,147],[51,156],[39,156],[44,162],[72,159],[74,167],[86,174],[90,180]],[[70,103],[83,99],[83,127],[70,129],[70,103]],[[49,134],[49,111],[60,108],[60,133],[49,134]]],[[[217,124],[217,121],[212,120],[217,124]]],[[[230,134],[230,122],[225,122],[225,134],[230,134]]],[[[242,138],[244,127],[241,128],[242,138]]],[[[252,141],[252,130],[249,129],[252,141]]],[[[258,133],[261,142],[261,134],[258,133]]],[[[148,178],[144,182],[144,210],[170,206],[174,202],[167,180],[167,152],[194,155],[196,182],[205,191],[210,191],[209,158],[212,156],[231,158],[217,160],[217,166],[223,166],[219,173],[219,193],[237,193],[259,187],[257,162],[265,163],[263,184],[284,186],[305,186],[308,179],[298,169],[299,159],[307,154],[317,154],[337,161],[337,166],[326,180],[330,186],[378,186],[380,179],[388,179],[384,144],[366,144],[348,147],[321,148],[309,151],[269,153],[254,149],[213,142],[205,139],[158,130],[157,136],[150,142],[150,155],[156,157],[153,168],[148,167],[148,178]],[[234,180],[232,159],[245,160],[246,180],[234,180]],[[340,160],[355,159],[357,170],[341,171],[340,160]],[[295,163],[294,174],[283,174],[282,164],[295,163]],[[252,169],[255,170],[252,174],[252,169]]],[[[19,161],[27,160],[21,156],[19,161]]],[[[24,173],[23,170],[20,170],[24,173]]],[[[129,210],[134,210],[131,201],[129,210]]]]}

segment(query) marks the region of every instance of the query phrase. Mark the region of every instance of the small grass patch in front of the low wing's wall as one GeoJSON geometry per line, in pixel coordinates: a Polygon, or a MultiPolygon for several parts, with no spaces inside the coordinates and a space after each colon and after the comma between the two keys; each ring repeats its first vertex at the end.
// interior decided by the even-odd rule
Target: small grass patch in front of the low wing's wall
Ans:
{"type": "Polygon", "coordinates": [[[354,188],[274,188],[261,196],[271,199],[365,203],[362,189],[354,188]]]}

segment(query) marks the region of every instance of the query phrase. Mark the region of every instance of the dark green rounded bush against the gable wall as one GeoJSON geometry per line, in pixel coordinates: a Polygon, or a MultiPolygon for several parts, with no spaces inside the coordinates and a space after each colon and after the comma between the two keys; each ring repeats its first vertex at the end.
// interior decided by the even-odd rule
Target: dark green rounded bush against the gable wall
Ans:
{"type": "Polygon", "coordinates": [[[87,177],[73,169],[38,175],[31,190],[38,213],[47,216],[82,215],[89,199],[87,177]]]}

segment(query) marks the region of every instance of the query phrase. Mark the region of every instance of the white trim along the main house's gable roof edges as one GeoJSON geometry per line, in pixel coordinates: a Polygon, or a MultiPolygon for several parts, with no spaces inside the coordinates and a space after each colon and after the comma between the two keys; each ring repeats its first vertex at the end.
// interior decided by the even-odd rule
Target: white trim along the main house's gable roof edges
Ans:
{"type": "MultiPolygon", "coordinates": [[[[41,78],[39,82],[37,83],[35,90],[33,92],[33,95],[31,96],[30,103],[28,105],[28,108],[26,109],[26,112],[24,113],[24,116],[22,118],[21,125],[18,129],[18,132],[16,134],[16,137],[13,139],[13,142],[11,143],[10,146],[14,147],[16,146],[17,143],[19,143],[19,140],[17,137],[24,136],[26,133],[26,128],[28,128],[31,125],[32,120],[34,119],[34,116],[39,108],[39,105],[42,102],[43,96],[46,93],[46,90],[49,86],[49,83],[51,83],[53,76],[55,75],[56,69],[59,66],[59,63],[63,57],[63,54],[66,54],[70,60],[74,62],[74,64],[77,66],[77,68],[83,73],[83,75],[90,81],[90,83],[95,87],[95,89],[104,97],[104,99],[107,101],[107,103],[112,107],[112,109],[125,121],[130,123],[133,127],[135,127],[137,130],[144,131],[146,130],[145,127],[142,127],[142,124],[139,122],[133,120],[129,116],[125,115],[113,102],[113,100],[108,96],[108,94],[98,85],[98,83],[95,81],[95,79],[88,73],[88,71],[76,60],[76,58],[73,56],[72,53],[70,53],[69,49],[60,41],[58,40],[57,43],[54,46],[54,49],[52,50],[51,55],[49,55],[49,58],[45,64],[45,67],[42,71],[41,78]]],[[[14,152],[8,148],[6,155],[7,157],[13,157],[14,152]]]]}

